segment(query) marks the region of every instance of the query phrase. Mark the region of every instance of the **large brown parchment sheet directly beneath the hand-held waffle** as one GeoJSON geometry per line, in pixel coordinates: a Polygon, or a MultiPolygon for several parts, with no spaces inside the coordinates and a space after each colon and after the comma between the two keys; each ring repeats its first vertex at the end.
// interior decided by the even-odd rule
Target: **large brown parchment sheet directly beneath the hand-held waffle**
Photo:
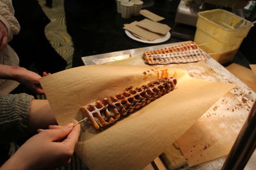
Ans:
{"type": "MultiPolygon", "coordinates": [[[[60,125],[76,118],[79,108],[97,99],[156,80],[163,67],[82,66],[45,76],[40,83],[60,125]],[[143,74],[147,72],[147,75],[143,74]],[[149,71],[149,73],[148,73],[149,71]]],[[[90,169],[142,169],[172,144],[223,94],[235,87],[191,78],[182,69],[168,68],[177,87],[102,132],[88,123],[76,152],[90,169]]]]}

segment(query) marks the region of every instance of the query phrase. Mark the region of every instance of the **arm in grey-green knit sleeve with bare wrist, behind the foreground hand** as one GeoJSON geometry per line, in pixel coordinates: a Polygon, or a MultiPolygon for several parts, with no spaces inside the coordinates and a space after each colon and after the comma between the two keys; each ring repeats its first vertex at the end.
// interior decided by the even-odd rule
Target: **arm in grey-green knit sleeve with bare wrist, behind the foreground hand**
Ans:
{"type": "Polygon", "coordinates": [[[28,94],[0,94],[0,143],[17,141],[37,129],[56,125],[47,100],[28,94]]]}

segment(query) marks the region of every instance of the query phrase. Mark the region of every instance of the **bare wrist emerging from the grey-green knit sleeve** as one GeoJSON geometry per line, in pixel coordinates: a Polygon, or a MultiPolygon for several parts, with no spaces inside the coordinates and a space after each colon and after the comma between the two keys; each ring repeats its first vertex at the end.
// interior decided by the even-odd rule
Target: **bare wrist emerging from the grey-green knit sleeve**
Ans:
{"type": "Polygon", "coordinates": [[[48,129],[49,125],[56,124],[56,118],[47,100],[36,99],[31,101],[28,132],[35,132],[37,129],[48,129]]]}

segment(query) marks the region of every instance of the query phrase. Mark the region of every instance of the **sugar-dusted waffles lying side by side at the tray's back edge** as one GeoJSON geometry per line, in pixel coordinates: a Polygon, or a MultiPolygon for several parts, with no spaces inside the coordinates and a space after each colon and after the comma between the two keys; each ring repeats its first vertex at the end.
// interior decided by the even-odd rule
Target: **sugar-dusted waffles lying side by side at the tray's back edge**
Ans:
{"type": "Polygon", "coordinates": [[[148,64],[172,64],[205,60],[204,52],[193,41],[143,53],[148,64]]]}

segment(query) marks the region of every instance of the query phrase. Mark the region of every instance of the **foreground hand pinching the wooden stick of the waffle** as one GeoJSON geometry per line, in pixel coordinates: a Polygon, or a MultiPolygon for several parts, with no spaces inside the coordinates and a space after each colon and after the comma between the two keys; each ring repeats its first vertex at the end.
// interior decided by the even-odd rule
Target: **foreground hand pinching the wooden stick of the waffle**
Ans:
{"type": "Polygon", "coordinates": [[[70,163],[79,138],[80,125],[73,124],[51,126],[51,129],[39,130],[3,165],[3,169],[49,169],[70,163]],[[10,168],[11,167],[11,168],[10,168]]]}

